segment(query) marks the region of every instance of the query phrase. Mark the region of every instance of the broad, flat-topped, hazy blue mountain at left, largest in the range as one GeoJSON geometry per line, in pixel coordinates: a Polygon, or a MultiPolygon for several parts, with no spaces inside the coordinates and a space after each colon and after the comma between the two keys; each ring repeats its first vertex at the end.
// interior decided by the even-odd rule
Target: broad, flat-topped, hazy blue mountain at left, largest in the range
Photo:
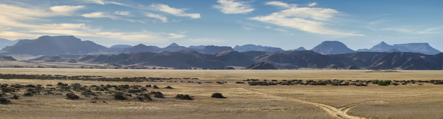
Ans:
{"type": "Polygon", "coordinates": [[[33,40],[19,40],[13,46],[0,50],[0,54],[30,54],[54,56],[57,54],[107,54],[111,50],[91,41],[74,36],[41,36],[33,40]]]}

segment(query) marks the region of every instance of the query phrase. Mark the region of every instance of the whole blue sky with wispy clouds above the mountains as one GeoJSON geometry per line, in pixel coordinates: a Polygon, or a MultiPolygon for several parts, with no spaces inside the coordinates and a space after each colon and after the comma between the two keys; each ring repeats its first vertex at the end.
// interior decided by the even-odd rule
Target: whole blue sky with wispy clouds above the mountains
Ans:
{"type": "Polygon", "coordinates": [[[0,38],[74,35],[103,46],[323,41],[350,49],[428,42],[443,51],[442,0],[1,0],[0,38]]]}

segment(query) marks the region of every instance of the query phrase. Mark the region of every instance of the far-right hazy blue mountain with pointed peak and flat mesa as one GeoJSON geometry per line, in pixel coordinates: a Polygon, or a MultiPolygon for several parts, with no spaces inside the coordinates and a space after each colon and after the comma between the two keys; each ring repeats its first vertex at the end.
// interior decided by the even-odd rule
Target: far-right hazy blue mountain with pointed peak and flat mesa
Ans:
{"type": "Polygon", "coordinates": [[[439,54],[441,51],[429,46],[429,43],[406,43],[406,44],[394,44],[388,45],[385,42],[381,42],[371,49],[359,49],[358,52],[389,52],[389,50],[396,49],[400,52],[413,52],[422,54],[439,54]]]}

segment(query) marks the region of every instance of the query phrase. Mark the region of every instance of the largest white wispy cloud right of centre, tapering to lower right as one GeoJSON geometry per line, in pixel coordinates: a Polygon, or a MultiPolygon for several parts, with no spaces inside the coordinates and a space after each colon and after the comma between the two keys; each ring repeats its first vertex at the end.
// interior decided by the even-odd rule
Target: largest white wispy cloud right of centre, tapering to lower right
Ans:
{"type": "Polygon", "coordinates": [[[335,36],[364,36],[357,33],[344,32],[336,29],[326,27],[331,25],[326,23],[331,18],[341,15],[341,12],[330,8],[306,8],[298,7],[297,4],[287,4],[279,1],[272,1],[266,3],[268,5],[286,8],[279,12],[274,12],[269,15],[256,16],[249,19],[261,21],[264,23],[272,23],[281,27],[288,27],[298,29],[321,35],[335,35],[335,36]]]}

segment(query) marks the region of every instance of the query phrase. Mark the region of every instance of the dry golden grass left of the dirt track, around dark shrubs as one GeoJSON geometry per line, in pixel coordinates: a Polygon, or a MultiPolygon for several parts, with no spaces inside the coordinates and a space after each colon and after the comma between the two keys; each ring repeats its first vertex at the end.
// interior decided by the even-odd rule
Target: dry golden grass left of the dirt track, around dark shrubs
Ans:
{"type": "MultiPolygon", "coordinates": [[[[110,84],[101,81],[58,81],[58,80],[0,80],[8,84],[110,84]]],[[[11,105],[0,105],[0,116],[7,119],[39,118],[84,118],[84,119],[121,119],[121,118],[158,118],[158,119],[336,119],[321,108],[259,95],[230,84],[197,84],[166,82],[112,82],[113,84],[157,85],[165,99],[153,98],[152,102],[116,101],[99,96],[101,100],[81,97],[82,100],[66,100],[65,96],[21,96],[11,100],[11,105]],[[175,89],[164,89],[170,85],[175,89]],[[222,93],[227,99],[210,98],[214,92],[222,93]],[[176,94],[189,94],[194,100],[176,100],[176,94]],[[29,101],[31,100],[31,101],[29,101]],[[103,101],[108,103],[88,103],[103,101]]],[[[78,93],[78,92],[76,92],[78,93]]]]}

